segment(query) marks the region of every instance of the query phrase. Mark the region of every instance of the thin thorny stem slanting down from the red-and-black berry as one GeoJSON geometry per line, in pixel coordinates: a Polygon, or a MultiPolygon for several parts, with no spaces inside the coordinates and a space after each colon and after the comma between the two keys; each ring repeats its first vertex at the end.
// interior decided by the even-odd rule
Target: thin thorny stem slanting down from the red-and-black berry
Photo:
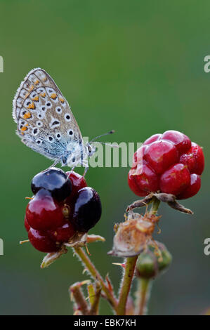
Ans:
{"type": "Polygon", "coordinates": [[[74,249],[75,253],[77,253],[77,256],[79,256],[80,260],[84,263],[84,265],[86,265],[86,268],[91,273],[93,278],[97,279],[98,282],[100,282],[101,288],[105,293],[107,301],[109,301],[110,304],[112,305],[112,307],[114,308],[114,310],[116,310],[117,309],[117,300],[114,297],[113,293],[110,292],[110,290],[106,286],[100,273],[98,272],[98,270],[96,270],[95,265],[93,265],[90,258],[88,258],[88,256],[86,255],[86,253],[84,252],[84,250],[81,247],[74,247],[73,249],[74,249]]]}

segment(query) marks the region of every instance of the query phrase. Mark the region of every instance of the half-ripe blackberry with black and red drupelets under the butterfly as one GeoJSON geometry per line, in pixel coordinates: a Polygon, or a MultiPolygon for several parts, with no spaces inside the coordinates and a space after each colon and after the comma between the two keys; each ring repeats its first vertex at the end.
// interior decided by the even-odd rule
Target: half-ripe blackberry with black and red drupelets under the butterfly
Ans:
{"type": "Polygon", "coordinates": [[[39,251],[58,251],[75,232],[88,232],[100,219],[100,197],[78,173],[47,169],[34,176],[31,187],[25,229],[39,251]]]}

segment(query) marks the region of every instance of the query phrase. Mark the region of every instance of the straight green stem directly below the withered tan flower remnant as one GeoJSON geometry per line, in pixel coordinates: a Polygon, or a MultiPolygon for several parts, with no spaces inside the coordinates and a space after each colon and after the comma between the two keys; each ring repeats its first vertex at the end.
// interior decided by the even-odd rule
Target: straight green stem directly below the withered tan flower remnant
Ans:
{"type": "Polygon", "coordinates": [[[131,289],[131,282],[133,279],[137,258],[138,256],[134,256],[126,259],[126,269],[124,271],[123,282],[119,292],[117,315],[126,315],[126,301],[129,296],[129,291],[131,289]]]}

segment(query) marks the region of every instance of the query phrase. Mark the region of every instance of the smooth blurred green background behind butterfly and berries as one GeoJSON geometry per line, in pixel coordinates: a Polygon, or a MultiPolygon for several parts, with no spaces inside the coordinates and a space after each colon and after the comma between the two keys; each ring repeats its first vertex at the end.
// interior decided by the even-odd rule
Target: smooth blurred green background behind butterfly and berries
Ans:
{"type": "MultiPolygon", "coordinates": [[[[20,81],[34,67],[44,68],[60,87],[84,136],[114,128],[105,140],[143,142],[153,133],[183,131],[204,147],[202,189],[184,202],[188,216],[161,206],[162,234],[156,236],[173,263],[153,286],[150,315],[197,315],[210,306],[209,263],[204,239],[209,223],[209,1],[0,1],[1,86],[1,315],[72,314],[70,284],[86,279],[72,251],[50,268],[44,253],[30,244],[23,226],[30,180],[51,161],[29,150],[15,135],[12,100],[20,81]]],[[[136,196],[127,168],[89,169],[88,185],[103,202],[103,216],[92,232],[107,241],[89,246],[102,274],[119,284],[121,270],[107,256],[114,222],[136,196]]],[[[101,314],[110,314],[103,301],[101,314]]]]}

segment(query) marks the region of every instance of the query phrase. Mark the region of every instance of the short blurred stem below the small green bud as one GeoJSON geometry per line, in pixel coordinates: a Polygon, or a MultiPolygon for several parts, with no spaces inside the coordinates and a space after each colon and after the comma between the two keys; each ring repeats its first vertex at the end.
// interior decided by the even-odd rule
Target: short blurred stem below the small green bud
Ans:
{"type": "Polygon", "coordinates": [[[137,310],[136,315],[146,315],[147,314],[147,303],[150,298],[150,290],[152,287],[152,282],[150,279],[138,279],[138,289],[136,291],[137,298],[137,310]]]}

